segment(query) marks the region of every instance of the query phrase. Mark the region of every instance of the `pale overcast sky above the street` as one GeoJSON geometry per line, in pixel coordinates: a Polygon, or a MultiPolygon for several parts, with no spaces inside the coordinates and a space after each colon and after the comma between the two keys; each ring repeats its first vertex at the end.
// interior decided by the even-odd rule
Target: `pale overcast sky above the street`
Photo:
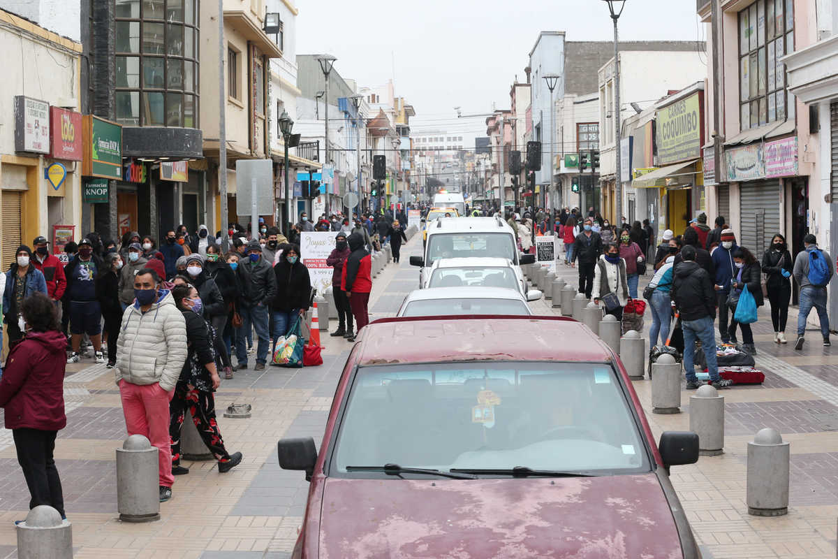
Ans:
{"type": "MultiPolygon", "coordinates": [[[[485,131],[463,115],[510,108],[510,85],[525,80],[541,30],[566,40],[613,40],[603,0],[298,0],[297,53],[328,52],[360,85],[394,78],[416,109],[411,128],[485,131]]],[[[627,0],[621,40],[705,40],[694,0],[627,0]]],[[[596,72],[596,68],[591,69],[596,72]]]]}

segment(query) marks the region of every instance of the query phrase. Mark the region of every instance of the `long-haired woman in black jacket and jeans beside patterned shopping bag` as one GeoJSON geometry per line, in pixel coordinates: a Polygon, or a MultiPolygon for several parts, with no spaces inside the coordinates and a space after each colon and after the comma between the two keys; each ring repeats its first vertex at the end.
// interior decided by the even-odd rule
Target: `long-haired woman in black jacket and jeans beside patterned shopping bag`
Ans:
{"type": "Polygon", "coordinates": [[[288,245],[273,272],[277,291],[271,300],[272,351],[277,349],[277,339],[287,334],[294,318],[306,313],[312,292],[308,267],[300,261],[299,246],[288,245]]]}

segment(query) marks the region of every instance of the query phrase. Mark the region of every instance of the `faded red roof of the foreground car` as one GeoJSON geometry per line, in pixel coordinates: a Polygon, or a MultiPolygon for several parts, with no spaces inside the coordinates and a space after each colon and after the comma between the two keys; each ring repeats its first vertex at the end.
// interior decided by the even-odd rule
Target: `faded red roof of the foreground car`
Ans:
{"type": "MultiPolygon", "coordinates": [[[[468,289],[476,292],[478,287],[468,289]]],[[[364,327],[360,343],[357,357],[360,365],[470,360],[592,363],[613,360],[611,349],[596,334],[567,317],[380,318],[364,327]]]]}

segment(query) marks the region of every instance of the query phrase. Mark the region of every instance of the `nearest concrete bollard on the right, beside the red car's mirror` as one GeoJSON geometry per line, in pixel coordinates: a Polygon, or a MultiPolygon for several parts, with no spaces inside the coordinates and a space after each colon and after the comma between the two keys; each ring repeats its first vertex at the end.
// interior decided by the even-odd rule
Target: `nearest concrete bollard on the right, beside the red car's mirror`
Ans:
{"type": "Polygon", "coordinates": [[[760,429],[747,443],[747,514],[789,513],[789,443],[775,429],[760,429]]]}

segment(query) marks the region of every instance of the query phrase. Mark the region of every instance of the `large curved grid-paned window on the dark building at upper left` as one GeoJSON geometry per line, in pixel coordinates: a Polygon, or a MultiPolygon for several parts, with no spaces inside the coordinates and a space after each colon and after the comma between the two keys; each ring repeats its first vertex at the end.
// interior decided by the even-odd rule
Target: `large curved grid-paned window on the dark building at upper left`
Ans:
{"type": "Polygon", "coordinates": [[[116,122],[198,127],[199,0],[116,0],[116,122]]]}

